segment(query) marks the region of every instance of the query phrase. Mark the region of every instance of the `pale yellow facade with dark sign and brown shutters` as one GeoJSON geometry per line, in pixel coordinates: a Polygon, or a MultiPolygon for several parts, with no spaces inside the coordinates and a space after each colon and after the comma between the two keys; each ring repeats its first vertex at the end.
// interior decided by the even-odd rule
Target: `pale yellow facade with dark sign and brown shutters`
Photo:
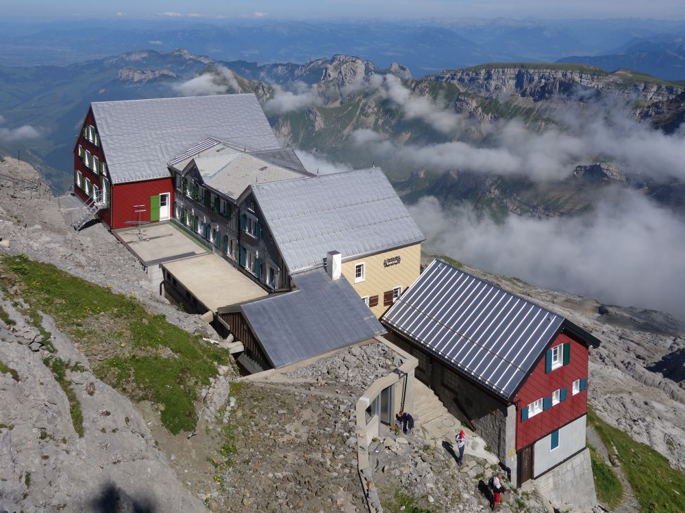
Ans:
{"type": "Polygon", "coordinates": [[[420,243],[343,262],[343,276],[377,318],[419,278],[419,274],[420,243]]]}

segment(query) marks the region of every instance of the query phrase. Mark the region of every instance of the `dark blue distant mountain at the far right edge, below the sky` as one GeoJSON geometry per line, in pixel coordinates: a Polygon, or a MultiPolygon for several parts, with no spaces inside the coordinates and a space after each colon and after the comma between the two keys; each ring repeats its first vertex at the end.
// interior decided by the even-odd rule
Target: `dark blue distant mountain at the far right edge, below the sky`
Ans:
{"type": "Polygon", "coordinates": [[[605,70],[630,68],[664,80],[685,79],[685,33],[634,38],[608,55],[564,57],[557,62],[592,64],[605,70]]]}

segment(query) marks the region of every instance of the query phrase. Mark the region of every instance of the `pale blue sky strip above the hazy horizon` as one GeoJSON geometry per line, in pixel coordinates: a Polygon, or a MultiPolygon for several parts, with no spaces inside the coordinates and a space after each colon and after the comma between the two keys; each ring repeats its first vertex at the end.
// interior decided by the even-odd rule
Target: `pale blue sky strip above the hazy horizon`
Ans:
{"type": "Polygon", "coordinates": [[[683,0],[2,0],[3,17],[65,18],[661,18],[683,0]]]}

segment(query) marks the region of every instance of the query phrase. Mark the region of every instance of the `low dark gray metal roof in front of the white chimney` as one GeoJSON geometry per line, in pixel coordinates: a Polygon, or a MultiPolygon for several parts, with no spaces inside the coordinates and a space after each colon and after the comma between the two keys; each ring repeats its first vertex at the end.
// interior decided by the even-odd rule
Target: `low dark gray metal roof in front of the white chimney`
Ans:
{"type": "Polygon", "coordinates": [[[386,330],[345,277],[325,269],[295,277],[298,290],[240,306],[274,367],[371,339],[386,330]]]}

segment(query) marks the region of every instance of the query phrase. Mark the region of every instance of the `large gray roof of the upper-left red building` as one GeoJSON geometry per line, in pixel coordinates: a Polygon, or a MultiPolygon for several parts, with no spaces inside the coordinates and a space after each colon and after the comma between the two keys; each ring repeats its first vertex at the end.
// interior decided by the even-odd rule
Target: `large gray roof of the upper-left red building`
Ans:
{"type": "Polygon", "coordinates": [[[280,147],[254,94],[91,104],[112,183],[165,178],[167,162],[207,137],[253,150],[280,147]]]}

